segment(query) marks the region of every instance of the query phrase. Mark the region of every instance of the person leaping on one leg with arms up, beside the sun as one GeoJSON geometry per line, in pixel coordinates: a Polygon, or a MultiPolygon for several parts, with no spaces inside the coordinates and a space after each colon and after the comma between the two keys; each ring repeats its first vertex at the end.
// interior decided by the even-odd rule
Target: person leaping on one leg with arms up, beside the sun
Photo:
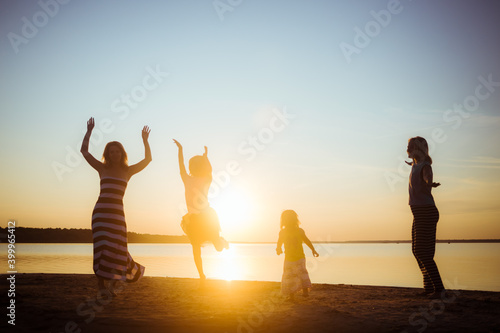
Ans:
{"type": "Polygon", "coordinates": [[[189,160],[189,174],[184,165],[182,145],[174,139],[179,148],[179,169],[184,183],[186,206],[188,213],[182,217],[181,227],[188,236],[193,247],[193,257],[196,269],[203,283],[206,279],[203,273],[201,246],[203,243],[213,243],[217,251],[228,249],[229,244],[220,237],[219,217],[208,202],[208,190],[212,183],[212,165],[208,160],[208,149],[205,146],[203,156],[196,155],[189,160]]]}

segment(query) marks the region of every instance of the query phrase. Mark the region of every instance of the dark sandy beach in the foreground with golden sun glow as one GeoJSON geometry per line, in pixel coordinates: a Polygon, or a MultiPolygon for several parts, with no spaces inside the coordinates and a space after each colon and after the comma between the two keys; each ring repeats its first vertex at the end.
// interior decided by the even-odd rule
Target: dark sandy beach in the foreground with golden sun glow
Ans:
{"type": "MultiPolygon", "coordinates": [[[[7,275],[2,285],[7,286],[7,275]]],[[[280,283],[144,277],[99,297],[93,275],[17,274],[12,332],[498,332],[500,293],[313,284],[295,301],[280,283]]],[[[5,288],[3,288],[5,290],[5,288]]],[[[7,293],[6,291],[4,292],[7,293]]],[[[5,311],[5,310],[4,310],[5,311]]],[[[7,310],[9,311],[9,310],[7,310]]],[[[4,331],[4,329],[2,329],[4,331]]]]}

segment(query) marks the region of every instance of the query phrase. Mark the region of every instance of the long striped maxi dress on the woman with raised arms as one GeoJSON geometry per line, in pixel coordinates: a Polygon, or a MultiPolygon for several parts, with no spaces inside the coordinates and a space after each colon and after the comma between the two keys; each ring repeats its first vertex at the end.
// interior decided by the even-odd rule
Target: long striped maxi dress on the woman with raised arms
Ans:
{"type": "Polygon", "coordinates": [[[94,273],[103,279],[135,282],[144,275],[127,248],[123,195],[127,180],[101,178],[101,193],[92,212],[94,273]]]}

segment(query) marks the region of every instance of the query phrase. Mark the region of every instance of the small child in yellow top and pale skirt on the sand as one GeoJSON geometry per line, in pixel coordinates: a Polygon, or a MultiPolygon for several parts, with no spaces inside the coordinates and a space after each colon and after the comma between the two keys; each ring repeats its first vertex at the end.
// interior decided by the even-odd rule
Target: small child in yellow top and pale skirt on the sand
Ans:
{"type": "Polygon", "coordinates": [[[311,249],[313,256],[319,254],[313,244],[307,238],[303,229],[299,228],[299,217],[293,210],[285,210],[281,214],[280,233],[276,253],[283,253],[282,246],[285,244],[285,263],[283,265],[283,277],[281,279],[281,293],[294,299],[294,294],[302,289],[303,296],[309,296],[311,280],[306,269],[306,256],[302,243],[306,243],[311,249]]]}

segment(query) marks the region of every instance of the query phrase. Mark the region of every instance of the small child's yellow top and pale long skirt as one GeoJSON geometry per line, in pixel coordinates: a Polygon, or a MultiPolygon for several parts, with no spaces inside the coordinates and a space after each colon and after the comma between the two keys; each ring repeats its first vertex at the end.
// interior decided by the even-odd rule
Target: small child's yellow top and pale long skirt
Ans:
{"type": "Polygon", "coordinates": [[[306,256],[302,248],[302,234],[300,228],[280,231],[285,244],[285,263],[283,265],[283,277],[281,279],[281,293],[291,295],[301,289],[311,288],[311,280],[306,269],[306,256]]]}

